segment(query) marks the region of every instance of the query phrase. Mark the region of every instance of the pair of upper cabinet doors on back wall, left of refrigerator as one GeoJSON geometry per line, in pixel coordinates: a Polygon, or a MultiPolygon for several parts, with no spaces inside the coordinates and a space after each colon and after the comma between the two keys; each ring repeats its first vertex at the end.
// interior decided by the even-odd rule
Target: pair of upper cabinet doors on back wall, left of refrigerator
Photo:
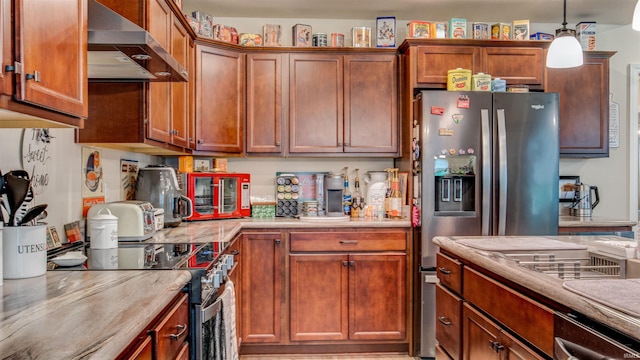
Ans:
{"type": "Polygon", "coordinates": [[[398,153],[395,53],[291,53],[290,155],[398,153]]]}

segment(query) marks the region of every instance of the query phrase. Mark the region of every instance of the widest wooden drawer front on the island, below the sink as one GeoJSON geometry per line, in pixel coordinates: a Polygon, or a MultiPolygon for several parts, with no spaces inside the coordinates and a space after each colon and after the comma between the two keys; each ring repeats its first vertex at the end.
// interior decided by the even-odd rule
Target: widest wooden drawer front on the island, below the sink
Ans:
{"type": "Polygon", "coordinates": [[[545,354],[553,355],[551,309],[467,266],[463,269],[463,276],[462,294],[465,300],[527,339],[545,354]]]}

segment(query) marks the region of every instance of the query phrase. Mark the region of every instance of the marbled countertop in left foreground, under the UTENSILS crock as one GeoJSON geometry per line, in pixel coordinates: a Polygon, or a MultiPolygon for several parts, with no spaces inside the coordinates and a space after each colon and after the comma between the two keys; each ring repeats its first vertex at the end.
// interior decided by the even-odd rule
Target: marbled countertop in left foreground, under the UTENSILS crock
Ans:
{"type": "Polygon", "coordinates": [[[47,271],[0,286],[0,357],[114,359],[191,280],[188,271],[47,271]]]}

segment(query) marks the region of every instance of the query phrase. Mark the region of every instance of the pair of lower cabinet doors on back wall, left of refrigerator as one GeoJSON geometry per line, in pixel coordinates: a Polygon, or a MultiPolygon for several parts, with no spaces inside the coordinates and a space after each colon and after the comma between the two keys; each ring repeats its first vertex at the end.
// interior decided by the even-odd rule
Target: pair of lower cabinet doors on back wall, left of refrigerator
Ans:
{"type": "Polygon", "coordinates": [[[403,340],[404,254],[291,254],[291,341],[403,340]]]}

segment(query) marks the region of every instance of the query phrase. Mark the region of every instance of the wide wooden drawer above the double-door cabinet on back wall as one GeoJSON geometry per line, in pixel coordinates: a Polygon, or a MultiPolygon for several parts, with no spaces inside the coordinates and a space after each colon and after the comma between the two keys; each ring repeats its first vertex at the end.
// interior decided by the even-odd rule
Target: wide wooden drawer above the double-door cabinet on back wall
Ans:
{"type": "Polygon", "coordinates": [[[404,231],[291,232],[291,251],[405,251],[404,231]]]}

